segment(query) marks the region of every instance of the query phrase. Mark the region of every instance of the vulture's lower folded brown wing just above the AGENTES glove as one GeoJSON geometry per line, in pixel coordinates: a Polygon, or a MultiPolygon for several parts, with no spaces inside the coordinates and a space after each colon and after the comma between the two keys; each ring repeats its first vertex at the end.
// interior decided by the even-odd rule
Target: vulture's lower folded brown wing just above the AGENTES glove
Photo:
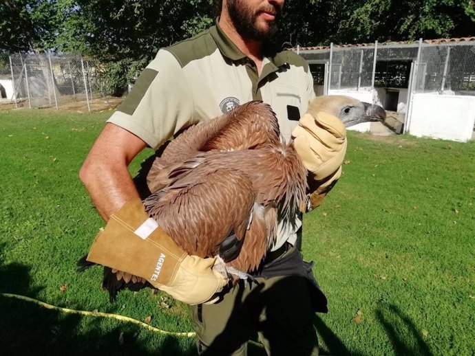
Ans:
{"type": "Polygon", "coordinates": [[[229,266],[253,271],[266,254],[267,210],[256,203],[251,179],[226,164],[200,160],[195,168],[180,170],[173,183],[145,199],[144,205],[188,254],[217,256],[220,244],[231,235],[241,241],[242,249],[229,266]]]}

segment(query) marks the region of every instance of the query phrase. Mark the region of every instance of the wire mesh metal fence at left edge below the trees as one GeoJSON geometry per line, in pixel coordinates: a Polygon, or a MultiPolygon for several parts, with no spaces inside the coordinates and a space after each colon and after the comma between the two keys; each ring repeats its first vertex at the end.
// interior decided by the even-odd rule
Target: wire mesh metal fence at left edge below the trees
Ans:
{"type": "Polygon", "coordinates": [[[72,54],[0,54],[0,85],[3,100],[15,107],[59,109],[75,102],[91,111],[105,98],[101,65],[72,54]]]}

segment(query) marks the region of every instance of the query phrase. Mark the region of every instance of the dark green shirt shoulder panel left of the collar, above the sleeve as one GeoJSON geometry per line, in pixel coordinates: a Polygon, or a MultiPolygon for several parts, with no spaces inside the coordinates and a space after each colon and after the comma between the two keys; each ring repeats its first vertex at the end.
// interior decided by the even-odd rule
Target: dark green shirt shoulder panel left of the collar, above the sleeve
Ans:
{"type": "Polygon", "coordinates": [[[206,30],[194,37],[178,42],[165,49],[175,56],[181,67],[184,67],[192,60],[210,56],[217,48],[218,47],[209,30],[206,30]]]}

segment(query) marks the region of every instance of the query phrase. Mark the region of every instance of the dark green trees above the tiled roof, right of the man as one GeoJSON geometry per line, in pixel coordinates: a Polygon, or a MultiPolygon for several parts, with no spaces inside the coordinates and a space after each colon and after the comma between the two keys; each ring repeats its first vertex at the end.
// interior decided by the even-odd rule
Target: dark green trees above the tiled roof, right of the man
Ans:
{"type": "Polygon", "coordinates": [[[475,35],[473,0],[305,2],[287,1],[283,41],[309,46],[475,35]]]}

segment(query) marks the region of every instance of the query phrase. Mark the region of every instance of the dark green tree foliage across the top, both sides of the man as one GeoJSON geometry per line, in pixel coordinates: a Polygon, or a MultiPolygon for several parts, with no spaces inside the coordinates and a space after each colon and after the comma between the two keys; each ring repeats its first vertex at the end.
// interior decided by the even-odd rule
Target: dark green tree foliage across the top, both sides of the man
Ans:
{"type": "MultiPolygon", "coordinates": [[[[0,50],[94,56],[120,87],[160,47],[209,27],[215,2],[3,0],[0,50]]],[[[287,0],[284,9],[277,42],[285,47],[475,35],[473,0],[287,0]]]]}

